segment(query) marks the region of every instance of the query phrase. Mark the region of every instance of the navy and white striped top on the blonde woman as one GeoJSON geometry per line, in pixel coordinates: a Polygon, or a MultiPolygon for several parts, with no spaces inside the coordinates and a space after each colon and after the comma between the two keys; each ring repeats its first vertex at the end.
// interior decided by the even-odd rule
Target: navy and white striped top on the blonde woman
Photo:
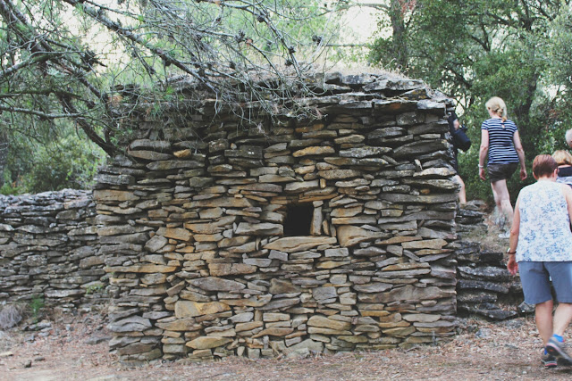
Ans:
{"type": "Polygon", "coordinates": [[[489,164],[518,162],[513,137],[518,130],[512,120],[491,118],[484,120],[481,129],[489,131],[489,164]]]}

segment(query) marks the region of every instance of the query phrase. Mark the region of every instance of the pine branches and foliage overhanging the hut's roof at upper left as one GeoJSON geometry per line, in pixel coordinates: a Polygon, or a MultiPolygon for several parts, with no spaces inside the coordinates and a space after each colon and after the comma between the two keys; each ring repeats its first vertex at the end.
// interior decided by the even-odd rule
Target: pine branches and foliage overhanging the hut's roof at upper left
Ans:
{"type": "MultiPolygon", "coordinates": [[[[314,0],[0,0],[0,186],[29,177],[73,137],[95,157],[117,153],[110,102],[172,96],[183,77],[217,99],[271,100],[287,112],[294,93],[311,92],[303,78],[332,37],[332,9],[314,0]],[[156,93],[139,91],[146,86],[156,93]]],[[[68,178],[94,171],[59,157],[68,178]]],[[[68,186],[66,176],[27,190],[68,186]]]]}

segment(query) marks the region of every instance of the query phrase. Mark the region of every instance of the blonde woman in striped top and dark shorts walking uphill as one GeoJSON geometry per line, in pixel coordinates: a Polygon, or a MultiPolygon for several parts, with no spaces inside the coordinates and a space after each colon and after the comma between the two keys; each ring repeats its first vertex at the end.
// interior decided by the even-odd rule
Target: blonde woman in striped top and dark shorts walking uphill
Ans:
{"type": "MultiPolygon", "coordinates": [[[[504,101],[498,96],[493,96],[485,105],[491,118],[484,120],[481,126],[479,177],[486,180],[484,160],[488,153],[487,171],[494,203],[502,216],[498,225],[503,229],[505,226],[510,226],[513,215],[507,179],[517,170],[519,162],[520,179],[526,178],[525,150],[520,142],[517,125],[507,119],[507,106],[504,101]]],[[[508,238],[508,232],[501,233],[501,237],[508,238]]]]}

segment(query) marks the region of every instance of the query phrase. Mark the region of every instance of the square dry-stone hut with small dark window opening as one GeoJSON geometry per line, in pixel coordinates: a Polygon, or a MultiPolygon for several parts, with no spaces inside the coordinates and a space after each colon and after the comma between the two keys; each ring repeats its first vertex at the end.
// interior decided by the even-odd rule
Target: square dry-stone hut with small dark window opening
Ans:
{"type": "Polygon", "coordinates": [[[314,82],[317,120],[245,126],[208,97],[182,120],[131,116],[127,155],[94,191],[123,360],[454,335],[450,100],[387,74],[314,82]]]}

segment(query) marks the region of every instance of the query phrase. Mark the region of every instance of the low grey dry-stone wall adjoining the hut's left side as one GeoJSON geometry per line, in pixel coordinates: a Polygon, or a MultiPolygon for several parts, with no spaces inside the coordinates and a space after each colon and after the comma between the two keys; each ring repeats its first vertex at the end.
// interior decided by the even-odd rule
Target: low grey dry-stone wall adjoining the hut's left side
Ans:
{"type": "Polygon", "coordinates": [[[107,300],[91,192],[0,195],[0,302],[64,310],[107,300]]]}

